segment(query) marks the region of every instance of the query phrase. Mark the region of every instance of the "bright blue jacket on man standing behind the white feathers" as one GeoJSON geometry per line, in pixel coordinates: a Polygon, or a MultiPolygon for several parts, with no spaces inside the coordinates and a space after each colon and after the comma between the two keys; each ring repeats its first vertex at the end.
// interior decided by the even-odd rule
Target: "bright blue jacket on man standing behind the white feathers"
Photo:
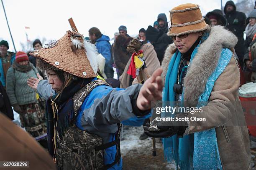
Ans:
{"type": "Polygon", "coordinates": [[[112,65],[111,62],[111,45],[109,42],[109,37],[106,35],[103,35],[96,40],[96,48],[100,54],[103,55],[106,59],[106,65],[112,65]]]}

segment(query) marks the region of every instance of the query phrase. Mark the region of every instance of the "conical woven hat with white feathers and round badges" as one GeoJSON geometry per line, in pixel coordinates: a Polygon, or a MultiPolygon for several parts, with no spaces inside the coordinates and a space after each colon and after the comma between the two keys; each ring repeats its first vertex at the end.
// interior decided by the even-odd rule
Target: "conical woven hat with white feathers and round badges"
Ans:
{"type": "Polygon", "coordinates": [[[97,76],[96,47],[75,31],[67,31],[61,39],[46,43],[44,48],[33,51],[30,55],[77,77],[97,76]]]}

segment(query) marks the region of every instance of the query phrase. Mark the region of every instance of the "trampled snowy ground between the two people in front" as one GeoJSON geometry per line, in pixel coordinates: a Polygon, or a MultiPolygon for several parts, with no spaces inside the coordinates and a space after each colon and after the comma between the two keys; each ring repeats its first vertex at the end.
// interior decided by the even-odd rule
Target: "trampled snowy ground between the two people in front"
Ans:
{"type": "Polygon", "coordinates": [[[164,162],[160,138],[156,138],[156,157],[152,156],[152,139],[139,139],[143,131],[142,126],[123,126],[120,142],[123,170],[175,170],[174,164],[164,162]]]}

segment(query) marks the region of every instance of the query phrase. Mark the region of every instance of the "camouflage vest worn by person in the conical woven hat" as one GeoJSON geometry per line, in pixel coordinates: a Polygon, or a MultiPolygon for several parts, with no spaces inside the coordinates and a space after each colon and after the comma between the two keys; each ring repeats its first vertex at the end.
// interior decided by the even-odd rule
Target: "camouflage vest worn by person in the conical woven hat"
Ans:
{"type": "MultiPolygon", "coordinates": [[[[97,85],[108,85],[105,81],[95,80],[79,90],[73,97],[74,112],[77,115],[84,99],[97,85]]],[[[103,168],[103,152],[95,147],[102,145],[102,139],[77,128],[68,128],[59,138],[57,132],[56,163],[61,170],[97,170],[103,168]]]]}

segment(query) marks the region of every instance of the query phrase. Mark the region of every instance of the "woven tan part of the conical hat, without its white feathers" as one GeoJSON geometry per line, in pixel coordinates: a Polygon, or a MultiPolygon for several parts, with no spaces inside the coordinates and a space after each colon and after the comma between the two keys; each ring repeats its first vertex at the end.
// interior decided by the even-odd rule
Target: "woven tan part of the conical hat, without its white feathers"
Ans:
{"type": "Polygon", "coordinates": [[[50,65],[77,77],[97,77],[84,50],[79,49],[77,50],[77,55],[74,54],[71,49],[72,42],[69,39],[70,37],[67,32],[67,34],[58,41],[56,46],[41,48],[38,51],[31,52],[30,55],[39,57],[50,65]]]}

